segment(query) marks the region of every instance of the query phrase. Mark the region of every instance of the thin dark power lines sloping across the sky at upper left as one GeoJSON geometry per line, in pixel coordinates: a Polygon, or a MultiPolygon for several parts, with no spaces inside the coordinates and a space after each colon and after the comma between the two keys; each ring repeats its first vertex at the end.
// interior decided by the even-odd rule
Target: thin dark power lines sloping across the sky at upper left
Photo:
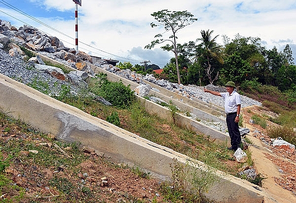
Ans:
{"type": "MultiPolygon", "coordinates": [[[[38,20],[37,18],[35,18],[35,17],[33,17],[33,16],[31,16],[31,15],[25,13],[24,11],[18,9],[17,7],[15,7],[15,6],[13,6],[13,5],[7,3],[6,1],[4,1],[4,0],[0,0],[0,2],[3,3],[4,5],[6,5],[7,7],[11,8],[11,9],[13,9],[13,10],[19,12],[19,13],[21,13],[22,15],[24,15],[24,16],[26,16],[26,17],[28,17],[28,18],[34,20],[34,21],[36,21],[37,23],[39,23],[39,24],[41,24],[41,25],[43,25],[43,26],[45,26],[45,27],[47,27],[47,28],[49,28],[49,29],[51,29],[51,30],[53,30],[53,31],[55,31],[55,32],[57,32],[57,33],[59,33],[59,34],[62,34],[62,35],[64,35],[64,36],[66,36],[66,37],[69,37],[69,38],[75,40],[74,37],[69,36],[68,34],[65,34],[65,33],[61,32],[61,31],[59,31],[59,30],[57,30],[57,29],[55,29],[55,28],[53,28],[53,27],[51,27],[51,26],[49,26],[49,25],[47,25],[47,24],[45,24],[45,23],[43,23],[42,21],[38,20]]],[[[18,19],[18,18],[16,18],[16,17],[14,17],[14,16],[12,16],[12,15],[9,15],[8,13],[6,13],[6,12],[4,12],[4,11],[2,11],[2,10],[0,10],[0,11],[1,11],[2,13],[4,13],[4,14],[6,14],[6,15],[8,15],[8,16],[10,16],[10,17],[12,17],[12,18],[14,18],[14,19],[16,19],[16,20],[22,22],[22,23],[24,23],[24,24],[26,24],[26,25],[29,25],[28,23],[26,23],[26,22],[24,22],[24,21],[22,21],[22,20],[20,20],[20,19],[18,19]]],[[[31,26],[31,25],[29,25],[29,26],[31,26]]],[[[34,27],[34,26],[31,26],[31,27],[34,27]]],[[[42,31],[42,30],[41,30],[41,31],[42,31]]],[[[45,34],[47,34],[47,33],[44,32],[44,31],[42,31],[42,32],[45,33],[45,34]]],[[[48,34],[48,35],[50,35],[50,34],[48,34]]],[[[65,42],[67,42],[67,41],[65,40],[65,42]]],[[[117,56],[117,55],[111,54],[111,53],[109,53],[109,52],[103,51],[103,50],[98,49],[98,48],[96,48],[96,47],[93,47],[93,46],[91,46],[91,45],[89,45],[89,44],[86,44],[86,43],[84,43],[84,42],[82,42],[82,41],[79,41],[79,42],[80,42],[81,44],[84,44],[84,45],[86,45],[86,46],[88,46],[88,47],[91,47],[91,48],[93,48],[93,49],[95,49],[95,50],[98,50],[98,51],[100,51],[100,52],[103,52],[103,53],[109,54],[109,55],[111,55],[111,56],[113,56],[113,57],[117,57],[117,58],[120,58],[120,59],[128,60],[128,61],[130,61],[130,62],[134,62],[134,63],[140,63],[140,61],[137,61],[137,60],[128,59],[128,58],[125,58],[125,57],[117,56]]],[[[74,44],[71,43],[71,42],[67,42],[67,43],[69,43],[69,44],[71,44],[71,45],[74,45],[74,44]]],[[[102,55],[102,54],[99,54],[99,53],[93,52],[93,51],[91,51],[91,50],[87,50],[87,49],[85,49],[85,48],[81,48],[81,49],[86,50],[86,51],[89,51],[89,52],[92,52],[92,53],[95,53],[95,54],[98,54],[98,55],[102,55]]],[[[103,55],[103,56],[104,56],[104,55],[103,55]]],[[[105,56],[105,57],[106,57],[106,56],[105,56]]],[[[164,66],[164,65],[162,65],[162,64],[158,64],[158,65],[160,65],[160,66],[164,66]]]]}

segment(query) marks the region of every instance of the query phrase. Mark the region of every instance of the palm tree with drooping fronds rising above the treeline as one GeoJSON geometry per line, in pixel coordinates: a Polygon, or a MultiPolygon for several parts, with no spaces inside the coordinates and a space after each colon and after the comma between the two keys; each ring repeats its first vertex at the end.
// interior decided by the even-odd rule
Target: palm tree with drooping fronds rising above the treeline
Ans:
{"type": "Polygon", "coordinates": [[[223,53],[222,53],[222,46],[218,45],[216,43],[216,39],[219,35],[215,36],[212,39],[212,34],[214,31],[209,32],[209,30],[204,31],[202,30],[201,37],[197,40],[201,40],[201,47],[203,49],[202,55],[206,58],[207,61],[207,68],[206,68],[206,75],[209,78],[210,84],[213,84],[215,80],[218,79],[219,76],[219,70],[215,72],[216,76],[213,79],[212,74],[215,70],[215,68],[211,65],[211,60],[216,60],[219,63],[223,64],[223,53]]]}

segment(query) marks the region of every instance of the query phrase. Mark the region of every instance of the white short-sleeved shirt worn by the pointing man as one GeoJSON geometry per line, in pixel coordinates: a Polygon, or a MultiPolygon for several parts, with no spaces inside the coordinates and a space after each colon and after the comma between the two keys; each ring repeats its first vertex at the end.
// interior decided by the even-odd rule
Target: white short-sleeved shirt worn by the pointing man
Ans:
{"type": "Polygon", "coordinates": [[[220,93],[222,98],[224,98],[224,109],[226,113],[233,113],[237,111],[237,105],[241,104],[240,95],[233,90],[233,92],[229,95],[228,92],[221,92],[220,93]]]}

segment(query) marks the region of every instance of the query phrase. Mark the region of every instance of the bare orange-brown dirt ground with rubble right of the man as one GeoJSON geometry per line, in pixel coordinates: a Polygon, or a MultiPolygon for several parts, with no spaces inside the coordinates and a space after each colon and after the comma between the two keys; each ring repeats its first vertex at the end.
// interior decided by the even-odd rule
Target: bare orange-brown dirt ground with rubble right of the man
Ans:
{"type": "MultiPolygon", "coordinates": [[[[246,135],[253,144],[249,145],[257,173],[263,180],[262,190],[270,194],[264,203],[296,203],[296,152],[288,153],[272,146],[272,140],[261,126],[252,124],[252,115],[277,116],[259,106],[242,109],[244,127],[250,129],[246,135]]],[[[268,126],[276,125],[267,121],[268,126]]]]}

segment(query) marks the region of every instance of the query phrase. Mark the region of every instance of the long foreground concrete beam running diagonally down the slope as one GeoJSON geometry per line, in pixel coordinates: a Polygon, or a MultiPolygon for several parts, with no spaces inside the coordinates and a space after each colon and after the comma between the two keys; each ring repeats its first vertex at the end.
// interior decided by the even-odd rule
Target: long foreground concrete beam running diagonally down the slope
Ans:
{"type": "MultiPolygon", "coordinates": [[[[49,61],[50,59],[43,58],[43,60],[49,61]]],[[[115,78],[114,75],[111,76],[115,78]]],[[[111,76],[108,74],[108,79],[111,76]]],[[[119,80],[118,77],[116,80],[119,80]]],[[[133,84],[133,87],[136,86],[133,84]]],[[[173,159],[177,159],[182,164],[187,164],[190,160],[183,154],[59,102],[2,74],[0,74],[0,93],[0,111],[7,115],[21,119],[32,127],[44,133],[56,135],[62,140],[81,142],[82,145],[95,150],[97,154],[115,163],[139,165],[159,180],[170,179],[170,164],[173,159]]],[[[150,109],[156,109],[155,106],[159,109],[163,108],[148,100],[143,100],[143,102],[150,109]]],[[[157,110],[157,113],[160,111],[157,110]]],[[[167,114],[167,111],[163,110],[163,114],[167,114]]],[[[181,120],[185,120],[185,117],[180,115],[181,120]]],[[[198,163],[198,167],[195,166],[198,170],[204,171],[207,168],[201,162],[196,160],[194,162],[198,163]]],[[[264,198],[272,199],[264,190],[257,190],[256,185],[248,181],[222,171],[216,173],[219,181],[206,193],[212,201],[262,203],[264,198]]]]}

